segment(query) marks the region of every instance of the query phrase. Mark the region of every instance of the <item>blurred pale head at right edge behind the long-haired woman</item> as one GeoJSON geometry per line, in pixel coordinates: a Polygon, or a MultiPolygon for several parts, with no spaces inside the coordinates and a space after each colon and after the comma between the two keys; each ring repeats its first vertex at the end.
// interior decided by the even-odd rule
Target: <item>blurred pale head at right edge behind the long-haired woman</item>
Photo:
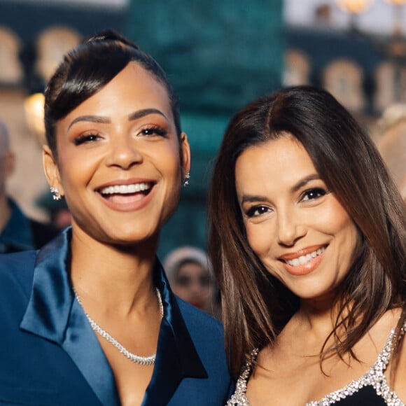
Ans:
{"type": "Polygon", "coordinates": [[[388,106],[379,130],[378,151],[406,202],[406,104],[388,106]]]}

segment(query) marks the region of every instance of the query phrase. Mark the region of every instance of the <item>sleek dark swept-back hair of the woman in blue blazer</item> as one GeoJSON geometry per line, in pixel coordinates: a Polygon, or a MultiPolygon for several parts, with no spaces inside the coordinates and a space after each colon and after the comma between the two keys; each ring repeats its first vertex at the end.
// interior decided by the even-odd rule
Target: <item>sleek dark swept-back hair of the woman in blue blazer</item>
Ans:
{"type": "Polygon", "coordinates": [[[68,52],[45,89],[45,134],[56,157],[55,125],[102,89],[130,62],[137,62],[165,85],[176,132],[181,134],[179,104],[167,74],[158,62],[114,31],[102,31],[68,52]]]}

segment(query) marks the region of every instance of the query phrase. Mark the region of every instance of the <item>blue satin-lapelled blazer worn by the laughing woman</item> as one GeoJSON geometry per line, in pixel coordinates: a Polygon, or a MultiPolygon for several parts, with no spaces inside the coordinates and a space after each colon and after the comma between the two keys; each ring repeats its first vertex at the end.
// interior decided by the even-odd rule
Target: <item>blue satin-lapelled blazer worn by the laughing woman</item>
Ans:
{"type": "MultiPolygon", "coordinates": [[[[0,255],[0,404],[120,405],[111,367],[69,281],[70,229],[41,251],[0,255]]],[[[176,297],[157,260],[165,315],[142,405],[224,405],[223,329],[176,297]]]]}

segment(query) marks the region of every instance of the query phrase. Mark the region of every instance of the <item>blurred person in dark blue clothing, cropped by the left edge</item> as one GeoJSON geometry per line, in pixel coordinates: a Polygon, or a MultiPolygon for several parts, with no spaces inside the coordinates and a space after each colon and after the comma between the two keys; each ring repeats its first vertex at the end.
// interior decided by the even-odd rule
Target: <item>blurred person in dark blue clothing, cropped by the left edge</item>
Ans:
{"type": "Polygon", "coordinates": [[[57,235],[57,228],[27,217],[7,194],[7,179],[13,173],[14,154],[10,135],[0,121],[0,253],[41,248],[57,235]]]}

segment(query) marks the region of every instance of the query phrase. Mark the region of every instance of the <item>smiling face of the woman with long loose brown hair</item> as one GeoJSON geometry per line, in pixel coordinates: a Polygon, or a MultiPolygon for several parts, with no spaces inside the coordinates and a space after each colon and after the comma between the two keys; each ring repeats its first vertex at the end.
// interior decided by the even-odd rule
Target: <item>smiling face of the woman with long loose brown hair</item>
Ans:
{"type": "Polygon", "coordinates": [[[286,134],[247,148],[235,178],[248,244],[266,269],[302,299],[333,295],[358,231],[302,144],[286,134]]]}

